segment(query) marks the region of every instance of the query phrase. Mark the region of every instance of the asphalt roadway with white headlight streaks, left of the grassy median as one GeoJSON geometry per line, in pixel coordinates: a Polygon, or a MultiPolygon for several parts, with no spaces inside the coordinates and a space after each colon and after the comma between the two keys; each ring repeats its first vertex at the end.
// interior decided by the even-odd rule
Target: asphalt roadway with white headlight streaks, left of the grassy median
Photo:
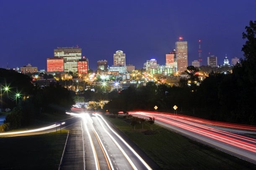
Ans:
{"type": "Polygon", "coordinates": [[[70,135],[61,170],[160,169],[99,114],[85,113],[81,121],[65,129],[70,130],[70,135]]]}

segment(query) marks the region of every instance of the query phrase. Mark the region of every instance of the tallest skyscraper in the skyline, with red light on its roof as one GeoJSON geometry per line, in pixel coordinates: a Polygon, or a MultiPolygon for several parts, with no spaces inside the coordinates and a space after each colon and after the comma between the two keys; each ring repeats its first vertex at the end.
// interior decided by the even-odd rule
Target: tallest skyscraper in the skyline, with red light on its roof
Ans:
{"type": "Polygon", "coordinates": [[[175,43],[177,69],[180,72],[185,71],[188,67],[188,42],[182,40],[183,38],[180,37],[179,41],[175,43]]]}

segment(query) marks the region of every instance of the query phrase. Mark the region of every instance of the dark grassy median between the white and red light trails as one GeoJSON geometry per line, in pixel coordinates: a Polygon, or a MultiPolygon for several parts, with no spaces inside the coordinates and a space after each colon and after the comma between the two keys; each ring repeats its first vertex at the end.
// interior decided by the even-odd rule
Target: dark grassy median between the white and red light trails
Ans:
{"type": "Polygon", "coordinates": [[[163,170],[252,170],[256,165],[202,145],[175,132],[146,123],[134,128],[127,119],[109,118],[163,170]],[[147,132],[147,134],[145,133],[147,132]]]}

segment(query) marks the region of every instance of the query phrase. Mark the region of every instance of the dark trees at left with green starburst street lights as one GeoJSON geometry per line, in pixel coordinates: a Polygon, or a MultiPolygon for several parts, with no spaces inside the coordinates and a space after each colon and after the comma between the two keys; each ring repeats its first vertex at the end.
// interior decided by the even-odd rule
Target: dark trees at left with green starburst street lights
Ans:
{"type": "Polygon", "coordinates": [[[32,84],[30,76],[13,70],[0,68],[0,84],[1,109],[12,108],[0,125],[1,132],[30,125],[43,113],[65,114],[75,104],[75,92],[56,82],[37,86],[32,84]]]}

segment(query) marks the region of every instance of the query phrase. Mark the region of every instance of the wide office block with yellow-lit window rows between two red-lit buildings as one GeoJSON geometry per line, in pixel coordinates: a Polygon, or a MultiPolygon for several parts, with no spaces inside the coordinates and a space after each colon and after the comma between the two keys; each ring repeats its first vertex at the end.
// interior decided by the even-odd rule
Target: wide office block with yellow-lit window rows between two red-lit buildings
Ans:
{"type": "Polygon", "coordinates": [[[64,71],[78,72],[78,60],[82,57],[82,48],[58,47],[54,49],[54,57],[63,57],[64,71]]]}

